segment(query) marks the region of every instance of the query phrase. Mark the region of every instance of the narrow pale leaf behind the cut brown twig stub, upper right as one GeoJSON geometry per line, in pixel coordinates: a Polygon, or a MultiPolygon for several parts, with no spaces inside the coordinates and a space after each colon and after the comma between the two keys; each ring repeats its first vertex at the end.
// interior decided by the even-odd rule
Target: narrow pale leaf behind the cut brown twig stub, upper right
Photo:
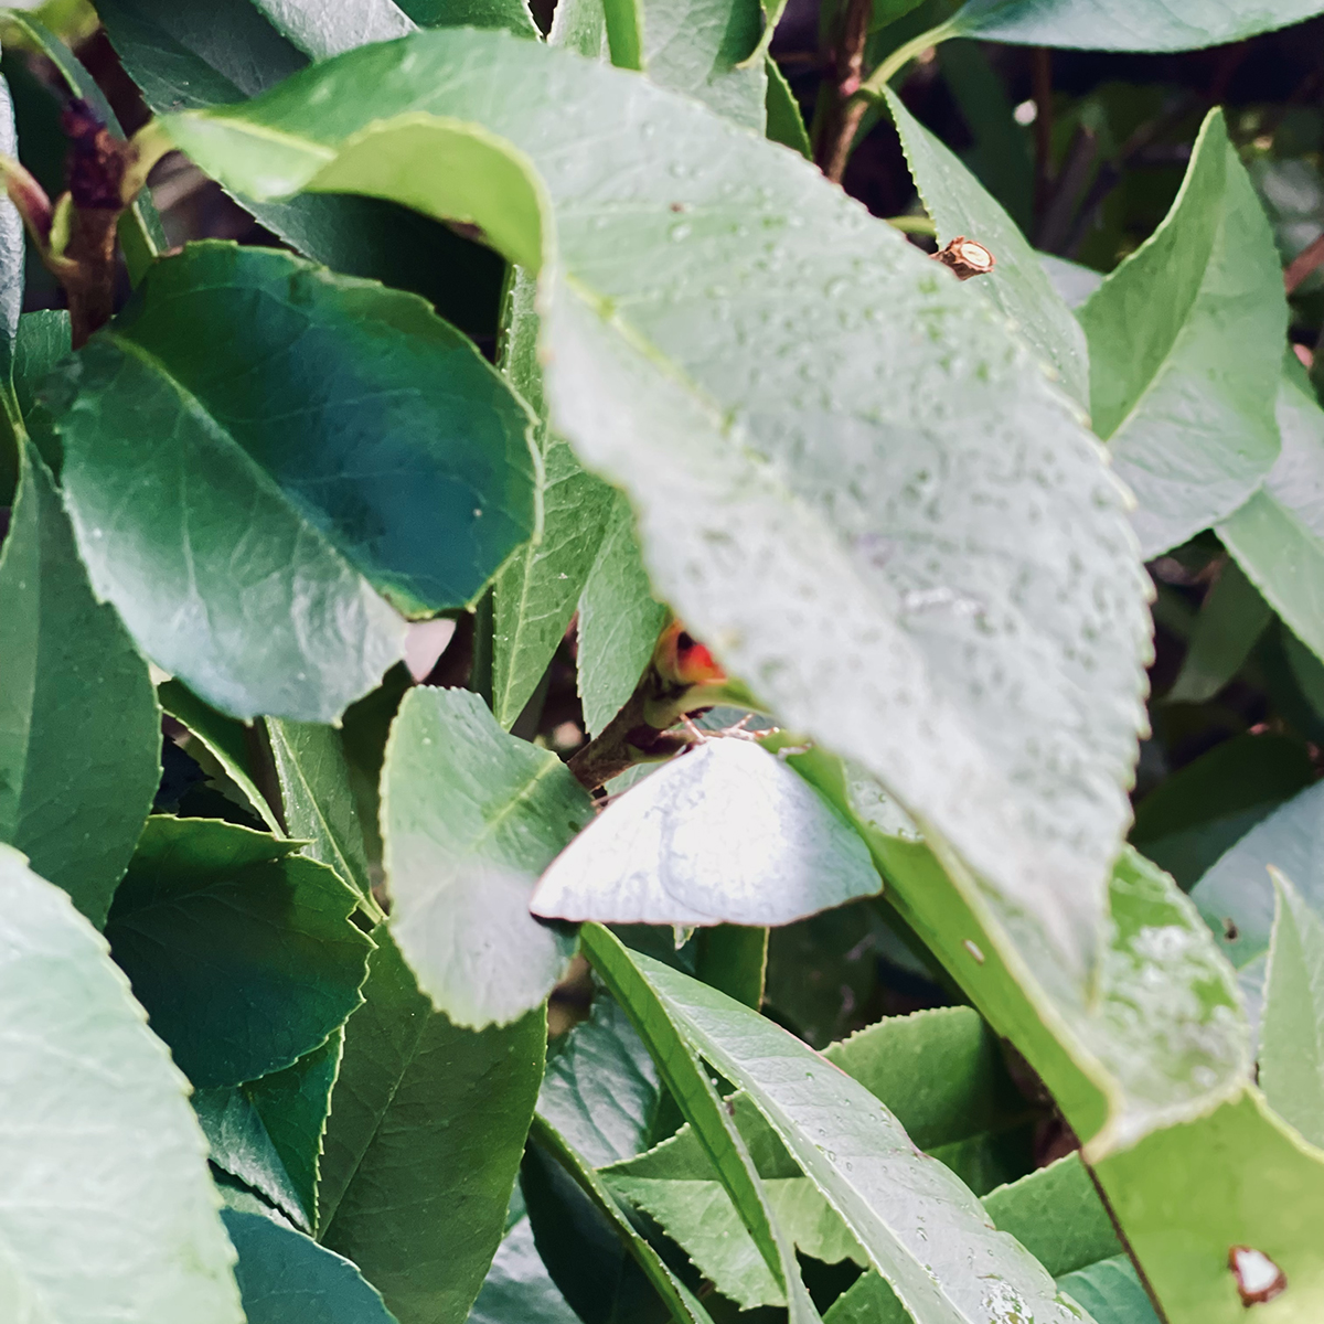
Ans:
{"type": "Polygon", "coordinates": [[[1087,401],[1090,360],[1084,332],[1053,289],[1029,240],[900,98],[890,87],[884,93],[915,187],[937,226],[939,242],[949,244],[957,236],[965,236],[982,244],[996,260],[988,275],[977,277],[967,287],[982,294],[1016,326],[1072,399],[1087,401]]]}

